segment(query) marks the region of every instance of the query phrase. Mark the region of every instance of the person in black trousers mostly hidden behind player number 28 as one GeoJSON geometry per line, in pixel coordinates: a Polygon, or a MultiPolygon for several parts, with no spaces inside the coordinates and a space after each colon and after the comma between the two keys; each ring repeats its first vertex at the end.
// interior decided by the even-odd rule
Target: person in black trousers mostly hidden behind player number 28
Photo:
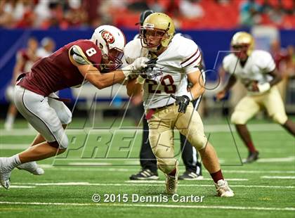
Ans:
{"type": "MultiPolygon", "coordinates": [[[[136,25],[143,25],[145,18],[148,15],[155,13],[152,10],[146,10],[140,13],[140,22],[136,25]]],[[[179,34],[179,33],[178,33],[179,34]]],[[[139,34],[136,34],[134,39],[138,39],[139,34]]],[[[187,36],[188,38],[188,36],[187,36]]],[[[198,108],[199,97],[196,101],[193,101],[193,105],[196,110],[198,108]],[[196,105],[197,104],[197,105],[196,105]]],[[[152,153],[152,148],[150,148],[150,141],[148,140],[148,124],[144,115],[143,108],[143,95],[137,94],[131,97],[131,103],[133,103],[133,108],[131,108],[131,114],[133,116],[139,117],[138,120],[143,120],[143,139],[140,147],[140,166],[141,170],[137,174],[132,174],[129,179],[131,180],[150,180],[150,179],[159,179],[157,173],[157,159],[152,153]]],[[[136,123],[138,124],[138,122],[136,123]]],[[[199,161],[199,155],[197,150],[190,145],[190,142],[181,135],[181,158],[183,159],[183,164],[185,165],[185,172],[178,177],[178,179],[183,180],[197,180],[203,179],[202,177],[202,164],[199,161]]]]}

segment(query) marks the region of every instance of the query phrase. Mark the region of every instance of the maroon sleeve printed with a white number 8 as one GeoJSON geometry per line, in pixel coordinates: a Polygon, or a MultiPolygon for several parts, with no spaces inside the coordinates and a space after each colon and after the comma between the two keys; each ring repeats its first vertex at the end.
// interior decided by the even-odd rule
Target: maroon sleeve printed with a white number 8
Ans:
{"type": "Polygon", "coordinates": [[[96,44],[90,40],[79,40],[76,45],[82,49],[85,56],[91,63],[100,64],[102,54],[96,44]]]}

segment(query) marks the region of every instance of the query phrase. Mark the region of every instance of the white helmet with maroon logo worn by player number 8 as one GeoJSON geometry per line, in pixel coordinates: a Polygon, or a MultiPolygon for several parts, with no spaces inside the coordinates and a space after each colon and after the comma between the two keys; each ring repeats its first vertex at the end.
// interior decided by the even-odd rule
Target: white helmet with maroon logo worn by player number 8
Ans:
{"type": "Polygon", "coordinates": [[[103,69],[116,70],[122,65],[126,38],[121,30],[111,25],[102,25],[94,30],[91,41],[103,53],[103,69]]]}

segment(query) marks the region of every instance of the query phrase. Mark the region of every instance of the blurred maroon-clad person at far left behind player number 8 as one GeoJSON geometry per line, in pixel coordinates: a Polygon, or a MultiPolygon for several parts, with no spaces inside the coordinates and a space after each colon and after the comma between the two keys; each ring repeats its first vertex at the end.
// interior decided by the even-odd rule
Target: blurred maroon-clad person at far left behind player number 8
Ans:
{"type": "Polygon", "coordinates": [[[36,60],[39,59],[37,55],[38,41],[34,37],[30,37],[27,40],[27,47],[25,49],[20,49],[16,55],[16,63],[13,69],[13,76],[11,78],[11,84],[6,89],[6,98],[10,101],[8,106],[8,111],[6,115],[6,120],[4,123],[4,128],[6,130],[13,129],[13,123],[16,115],[18,115],[18,110],[13,103],[13,92],[16,78],[23,72],[28,72],[31,70],[32,65],[36,60]]]}

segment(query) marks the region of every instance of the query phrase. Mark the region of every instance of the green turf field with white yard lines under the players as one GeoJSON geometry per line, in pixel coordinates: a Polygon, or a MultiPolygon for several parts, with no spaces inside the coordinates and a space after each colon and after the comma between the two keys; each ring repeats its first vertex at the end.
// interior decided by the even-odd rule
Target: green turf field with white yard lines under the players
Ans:
{"type": "MultiPolygon", "coordinates": [[[[216,197],[203,169],[204,180],[180,181],[178,186],[178,195],[204,196],[202,202],[189,199],[184,203],[171,198],[161,202],[166,201],[161,172],[154,183],[129,181],[140,169],[141,133],[131,125],[131,121],[105,120],[93,129],[74,120],[67,130],[67,153],[39,162],[44,175],[15,169],[10,190],[0,188],[0,217],[295,217],[295,141],[277,124],[252,122],[250,130],[260,160],[242,165],[240,158],[247,156],[247,150],[225,120],[205,122],[235,197],[216,197]],[[95,193],[101,197],[99,203],[92,200],[95,193]],[[157,202],[148,201],[155,196],[157,202]],[[136,202],[138,197],[145,202],[136,202]]],[[[18,153],[34,139],[34,131],[22,129],[25,122],[16,127],[11,132],[0,129],[0,156],[18,153]]],[[[175,136],[179,139],[178,133],[175,136]]],[[[179,157],[178,140],[175,148],[179,157]]],[[[182,173],[182,164],[180,169],[182,173]]]]}

